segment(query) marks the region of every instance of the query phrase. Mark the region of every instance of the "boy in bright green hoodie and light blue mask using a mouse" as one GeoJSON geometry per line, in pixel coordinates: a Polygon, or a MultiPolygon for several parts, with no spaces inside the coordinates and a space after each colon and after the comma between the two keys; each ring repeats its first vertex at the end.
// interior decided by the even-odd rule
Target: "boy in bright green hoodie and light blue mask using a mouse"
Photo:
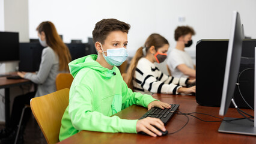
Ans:
{"type": "Polygon", "coordinates": [[[162,133],[153,125],[165,131],[163,122],[157,118],[128,120],[118,116],[109,117],[132,104],[147,107],[148,110],[151,107],[171,107],[151,95],[142,95],[127,88],[116,66],[121,65],[128,56],[129,29],[129,24],[116,19],[97,22],[93,41],[98,55],[88,55],[69,63],[74,80],[70,88],[69,106],[62,116],[60,141],[81,130],[107,133],[144,131],[154,137],[162,133]]]}

